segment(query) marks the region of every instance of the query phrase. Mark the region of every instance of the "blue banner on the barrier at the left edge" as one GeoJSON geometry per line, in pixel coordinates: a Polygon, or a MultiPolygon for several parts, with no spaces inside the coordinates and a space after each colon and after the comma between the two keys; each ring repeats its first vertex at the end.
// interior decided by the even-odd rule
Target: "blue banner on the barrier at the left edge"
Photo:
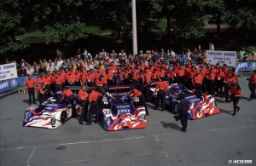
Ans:
{"type": "MultiPolygon", "coordinates": [[[[35,78],[38,78],[38,76],[35,76],[35,78]]],[[[11,89],[16,89],[20,85],[24,85],[25,82],[26,82],[26,77],[16,77],[13,79],[2,81],[0,82],[0,93],[3,93],[11,89]]]]}

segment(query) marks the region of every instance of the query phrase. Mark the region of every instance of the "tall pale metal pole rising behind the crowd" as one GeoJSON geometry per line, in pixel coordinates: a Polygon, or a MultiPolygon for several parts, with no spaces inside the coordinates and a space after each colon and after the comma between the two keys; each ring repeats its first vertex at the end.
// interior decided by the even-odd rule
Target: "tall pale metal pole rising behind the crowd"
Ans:
{"type": "Polygon", "coordinates": [[[132,4],[132,46],[133,46],[133,54],[137,54],[136,0],[131,0],[131,4],[132,4]]]}

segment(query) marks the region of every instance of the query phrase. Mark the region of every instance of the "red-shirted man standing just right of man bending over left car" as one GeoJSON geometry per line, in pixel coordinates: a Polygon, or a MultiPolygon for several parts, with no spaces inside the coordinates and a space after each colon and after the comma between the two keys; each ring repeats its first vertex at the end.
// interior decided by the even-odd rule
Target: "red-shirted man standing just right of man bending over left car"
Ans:
{"type": "Polygon", "coordinates": [[[83,121],[88,122],[88,104],[89,104],[89,94],[86,92],[85,84],[82,85],[82,88],[79,90],[79,101],[82,107],[82,113],[79,119],[79,124],[84,125],[83,121]]]}

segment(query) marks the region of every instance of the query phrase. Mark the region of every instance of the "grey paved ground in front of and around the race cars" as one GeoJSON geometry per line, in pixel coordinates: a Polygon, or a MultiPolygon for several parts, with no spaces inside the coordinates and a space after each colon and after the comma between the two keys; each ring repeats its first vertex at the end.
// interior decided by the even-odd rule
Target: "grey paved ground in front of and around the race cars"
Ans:
{"type": "MultiPolygon", "coordinates": [[[[240,78],[247,97],[247,81],[240,78]]],[[[107,132],[70,119],[58,129],[21,126],[27,94],[0,99],[0,165],[226,165],[256,163],[256,100],[242,98],[241,111],[216,98],[221,113],[189,121],[187,133],[170,112],[150,107],[146,129],[107,132]]]]}

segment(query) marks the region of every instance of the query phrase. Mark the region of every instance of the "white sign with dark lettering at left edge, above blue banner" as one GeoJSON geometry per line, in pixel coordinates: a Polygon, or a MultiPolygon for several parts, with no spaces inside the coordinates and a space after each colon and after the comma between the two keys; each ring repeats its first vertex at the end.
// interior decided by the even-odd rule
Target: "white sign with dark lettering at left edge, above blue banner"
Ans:
{"type": "Polygon", "coordinates": [[[0,81],[18,77],[15,63],[0,65],[0,81]]]}

